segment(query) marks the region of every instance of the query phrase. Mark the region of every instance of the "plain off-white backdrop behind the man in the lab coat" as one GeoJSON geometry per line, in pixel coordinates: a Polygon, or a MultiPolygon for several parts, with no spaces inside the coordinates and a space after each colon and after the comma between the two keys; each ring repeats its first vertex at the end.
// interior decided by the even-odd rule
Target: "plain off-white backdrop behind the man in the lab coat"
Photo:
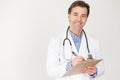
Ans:
{"type": "MultiPolygon", "coordinates": [[[[0,80],[50,80],[48,42],[68,24],[74,0],[0,0],[0,80]]],[[[91,6],[86,31],[100,42],[105,74],[120,80],[120,0],[85,0],[91,6]]]]}

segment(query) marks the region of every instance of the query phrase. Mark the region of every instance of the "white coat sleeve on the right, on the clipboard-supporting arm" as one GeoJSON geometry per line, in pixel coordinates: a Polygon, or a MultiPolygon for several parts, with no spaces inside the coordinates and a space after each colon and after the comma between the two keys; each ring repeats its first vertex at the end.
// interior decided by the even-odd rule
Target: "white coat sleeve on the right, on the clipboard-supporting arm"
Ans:
{"type": "Polygon", "coordinates": [[[98,45],[98,41],[96,41],[96,44],[95,44],[95,57],[96,57],[96,59],[103,59],[100,63],[98,63],[97,65],[96,65],[96,67],[97,67],[97,75],[96,75],[96,77],[98,77],[98,76],[100,76],[100,75],[103,75],[103,73],[104,73],[104,58],[103,58],[103,54],[101,53],[101,51],[100,51],[100,49],[99,49],[99,45],[98,45]]]}

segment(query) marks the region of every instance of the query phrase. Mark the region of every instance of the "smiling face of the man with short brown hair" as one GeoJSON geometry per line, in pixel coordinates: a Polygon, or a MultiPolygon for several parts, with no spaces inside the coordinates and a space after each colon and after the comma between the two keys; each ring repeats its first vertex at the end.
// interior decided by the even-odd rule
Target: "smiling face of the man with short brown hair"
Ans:
{"type": "Polygon", "coordinates": [[[87,21],[87,8],[76,6],[68,14],[71,31],[81,31],[87,21]]]}

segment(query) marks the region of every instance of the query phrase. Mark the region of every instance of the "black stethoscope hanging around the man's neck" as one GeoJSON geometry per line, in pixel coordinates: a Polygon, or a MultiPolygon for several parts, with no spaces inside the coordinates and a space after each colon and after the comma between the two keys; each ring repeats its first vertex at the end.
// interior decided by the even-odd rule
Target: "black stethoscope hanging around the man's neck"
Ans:
{"type": "MultiPolygon", "coordinates": [[[[64,46],[65,46],[65,41],[68,41],[69,44],[70,44],[70,48],[71,48],[71,55],[76,55],[75,52],[72,50],[72,43],[70,41],[70,39],[68,38],[68,30],[69,30],[70,27],[67,28],[67,31],[66,31],[66,38],[63,40],[63,51],[64,51],[64,46]]],[[[88,45],[88,39],[87,39],[87,36],[86,36],[86,33],[84,31],[84,29],[82,29],[82,32],[85,36],[85,39],[86,39],[86,46],[87,46],[87,51],[88,51],[88,58],[87,59],[93,59],[92,57],[92,54],[90,54],[90,50],[89,50],[89,45],[88,45]]],[[[71,56],[71,59],[72,59],[72,56],[71,56]]]]}

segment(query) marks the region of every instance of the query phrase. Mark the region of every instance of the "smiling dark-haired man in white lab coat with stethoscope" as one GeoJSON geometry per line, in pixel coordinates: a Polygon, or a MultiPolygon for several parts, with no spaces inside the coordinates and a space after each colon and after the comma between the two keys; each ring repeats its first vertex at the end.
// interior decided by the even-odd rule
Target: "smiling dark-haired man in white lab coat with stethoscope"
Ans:
{"type": "Polygon", "coordinates": [[[102,59],[98,41],[83,31],[89,16],[89,5],[81,0],[74,1],[68,9],[69,27],[50,40],[47,54],[48,75],[57,80],[92,80],[104,72],[103,61],[88,66],[84,73],[62,78],[65,72],[86,60],[89,54],[102,59]]]}

